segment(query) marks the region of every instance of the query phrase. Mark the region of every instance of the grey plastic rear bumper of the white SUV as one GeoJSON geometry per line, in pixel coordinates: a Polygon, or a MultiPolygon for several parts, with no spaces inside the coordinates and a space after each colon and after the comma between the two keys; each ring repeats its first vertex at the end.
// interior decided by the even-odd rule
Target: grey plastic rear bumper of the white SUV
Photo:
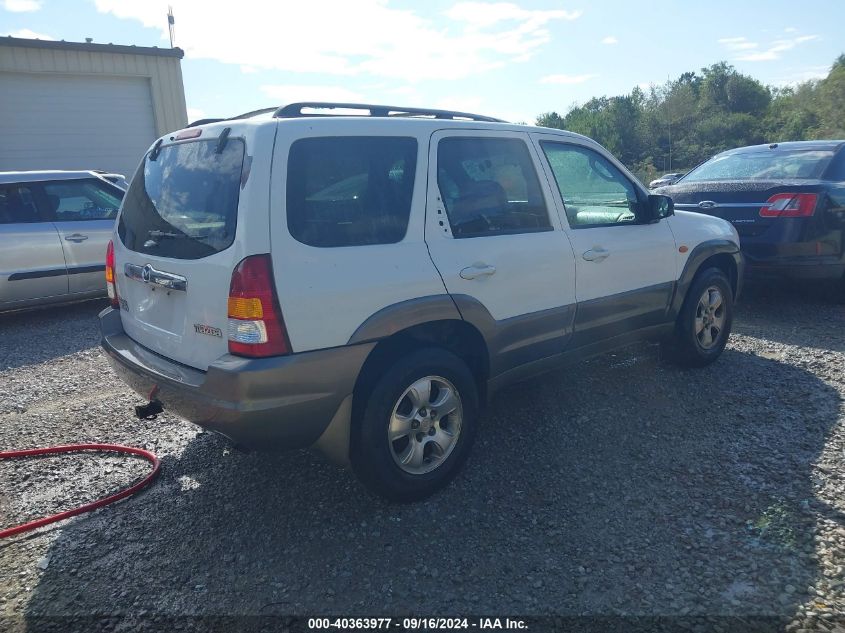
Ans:
{"type": "MultiPolygon", "coordinates": [[[[100,313],[101,345],[115,373],[144,399],[251,448],[305,448],[339,415],[374,343],[248,359],[221,356],[208,371],[152,352],[100,313]]],[[[348,425],[348,420],[340,421],[348,425]]]]}

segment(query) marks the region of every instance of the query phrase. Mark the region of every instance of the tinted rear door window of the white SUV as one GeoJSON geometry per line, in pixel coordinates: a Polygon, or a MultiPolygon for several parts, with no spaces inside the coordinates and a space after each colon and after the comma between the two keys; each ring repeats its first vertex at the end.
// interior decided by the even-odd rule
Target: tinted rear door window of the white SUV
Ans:
{"type": "Polygon", "coordinates": [[[442,139],[437,184],[456,238],[552,230],[537,172],[520,139],[442,139]]]}

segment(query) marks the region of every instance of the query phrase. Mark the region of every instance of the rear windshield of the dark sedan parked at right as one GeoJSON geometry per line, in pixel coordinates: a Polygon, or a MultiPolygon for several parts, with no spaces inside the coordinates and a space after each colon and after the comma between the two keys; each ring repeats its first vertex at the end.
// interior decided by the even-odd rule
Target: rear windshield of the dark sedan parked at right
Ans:
{"type": "Polygon", "coordinates": [[[765,150],[716,156],[680,182],[705,180],[812,180],[833,158],[827,150],[765,150]]]}

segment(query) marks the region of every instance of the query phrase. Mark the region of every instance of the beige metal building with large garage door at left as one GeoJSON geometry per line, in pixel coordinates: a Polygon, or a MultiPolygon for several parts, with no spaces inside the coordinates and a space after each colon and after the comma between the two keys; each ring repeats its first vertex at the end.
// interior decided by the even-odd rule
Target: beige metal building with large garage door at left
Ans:
{"type": "Polygon", "coordinates": [[[179,48],[0,37],[0,171],[130,177],[188,123],[179,48]]]}

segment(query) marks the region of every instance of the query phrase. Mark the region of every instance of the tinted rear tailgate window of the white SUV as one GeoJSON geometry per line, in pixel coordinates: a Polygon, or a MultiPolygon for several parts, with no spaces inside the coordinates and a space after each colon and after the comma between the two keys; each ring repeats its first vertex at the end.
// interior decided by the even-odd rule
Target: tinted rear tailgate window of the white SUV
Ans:
{"type": "Polygon", "coordinates": [[[118,234],[138,253],[199,259],[235,239],[244,144],[189,141],[150,152],[123,202],[118,234]]]}

